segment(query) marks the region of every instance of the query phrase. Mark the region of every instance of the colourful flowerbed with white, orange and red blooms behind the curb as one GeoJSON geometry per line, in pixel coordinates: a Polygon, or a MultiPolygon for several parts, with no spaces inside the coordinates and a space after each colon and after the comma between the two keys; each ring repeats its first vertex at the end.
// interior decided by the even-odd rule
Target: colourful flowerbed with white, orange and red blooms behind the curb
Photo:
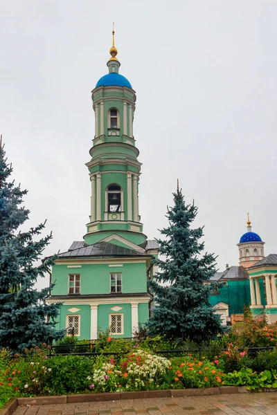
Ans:
{"type": "MultiPolygon", "coordinates": [[[[66,338],[63,347],[67,348],[67,352],[69,348],[75,351],[75,345],[69,342],[70,339],[66,338]]],[[[86,342],[85,347],[88,344],[86,342]]],[[[277,348],[262,350],[253,356],[249,353],[249,345],[268,347],[276,344],[276,326],[269,326],[266,320],[254,320],[250,316],[244,326],[232,328],[222,338],[205,344],[202,351],[190,341],[174,347],[161,337],[136,342],[112,340],[109,335],[100,335],[93,351],[97,349],[100,353],[108,351],[114,354],[100,354],[95,360],[73,354],[49,357],[50,348],[46,344],[41,349],[26,350],[26,356],[11,356],[9,351],[2,350],[0,407],[9,398],[19,396],[222,385],[245,386],[249,390],[277,388],[277,348]],[[171,354],[170,358],[165,358],[152,351],[171,348],[182,348],[186,356],[172,358],[171,354]]]]}

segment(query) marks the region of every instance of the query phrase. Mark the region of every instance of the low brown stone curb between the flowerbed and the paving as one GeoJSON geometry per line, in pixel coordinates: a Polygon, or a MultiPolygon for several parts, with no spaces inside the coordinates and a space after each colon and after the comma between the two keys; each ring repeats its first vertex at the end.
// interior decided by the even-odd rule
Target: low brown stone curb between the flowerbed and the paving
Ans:
{"type": "Polygon", "coordinates": [[[64,396],[37,396],[35,398],[14,398],[0,409],[0,415],[12,415],[18,405],[54,405],[57,403],[100,402],[104,400],[181,398],[184,396],[204,396],[219,394],[244,394],[243,386],[208,387],[207,389],[164,389],[158,391],[111,392],[103,394],[80,394],[64,396]]]}

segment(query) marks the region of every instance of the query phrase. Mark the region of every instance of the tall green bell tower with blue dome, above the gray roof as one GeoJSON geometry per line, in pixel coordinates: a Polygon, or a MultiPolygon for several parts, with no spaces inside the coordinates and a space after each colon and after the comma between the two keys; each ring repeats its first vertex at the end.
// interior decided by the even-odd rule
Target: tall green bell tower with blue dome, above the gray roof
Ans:
{"type": "Polygon", "coordinates": [[[141,163],[133,135],[136,93],[120,75],[120,62],[112,31],[109,73],[92,91],[95,136],[91,160],[91,213],[84,241],[88,245],[107,241],[143,246],[146,240],[139,216],[141,163]]]}

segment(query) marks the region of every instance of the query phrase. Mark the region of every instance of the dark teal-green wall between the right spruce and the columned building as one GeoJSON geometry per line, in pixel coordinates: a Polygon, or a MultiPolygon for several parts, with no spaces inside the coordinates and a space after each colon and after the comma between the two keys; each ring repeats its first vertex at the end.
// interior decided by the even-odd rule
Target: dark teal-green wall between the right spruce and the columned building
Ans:
{"type": "Polygon", "coordinates": [[[224,302],[229,304],[229,315],[243,313],[244,306],[251,304],[249,279],[228,281],[227,284],[220,286],[219,294],[211,295],[211,305],[224,302]]]}

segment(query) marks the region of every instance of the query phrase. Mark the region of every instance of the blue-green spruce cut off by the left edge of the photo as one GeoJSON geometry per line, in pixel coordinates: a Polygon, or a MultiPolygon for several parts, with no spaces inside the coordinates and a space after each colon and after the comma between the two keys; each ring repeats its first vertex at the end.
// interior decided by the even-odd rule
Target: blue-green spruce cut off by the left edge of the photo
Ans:
{"type": "Polygon", "coordinates": [[[46,304],[53,285],[42,291],[34,288],[37,277],[44,277],[53,265],[54,257],[39,260],[52,236],[37,237],[45,223],[19,232],[29,214],[21,206],[27,191],[8,181],[11,173],[0,140],[0,347],[23,351],[64,333],[55,329],[60,304],[46,304]]]}

